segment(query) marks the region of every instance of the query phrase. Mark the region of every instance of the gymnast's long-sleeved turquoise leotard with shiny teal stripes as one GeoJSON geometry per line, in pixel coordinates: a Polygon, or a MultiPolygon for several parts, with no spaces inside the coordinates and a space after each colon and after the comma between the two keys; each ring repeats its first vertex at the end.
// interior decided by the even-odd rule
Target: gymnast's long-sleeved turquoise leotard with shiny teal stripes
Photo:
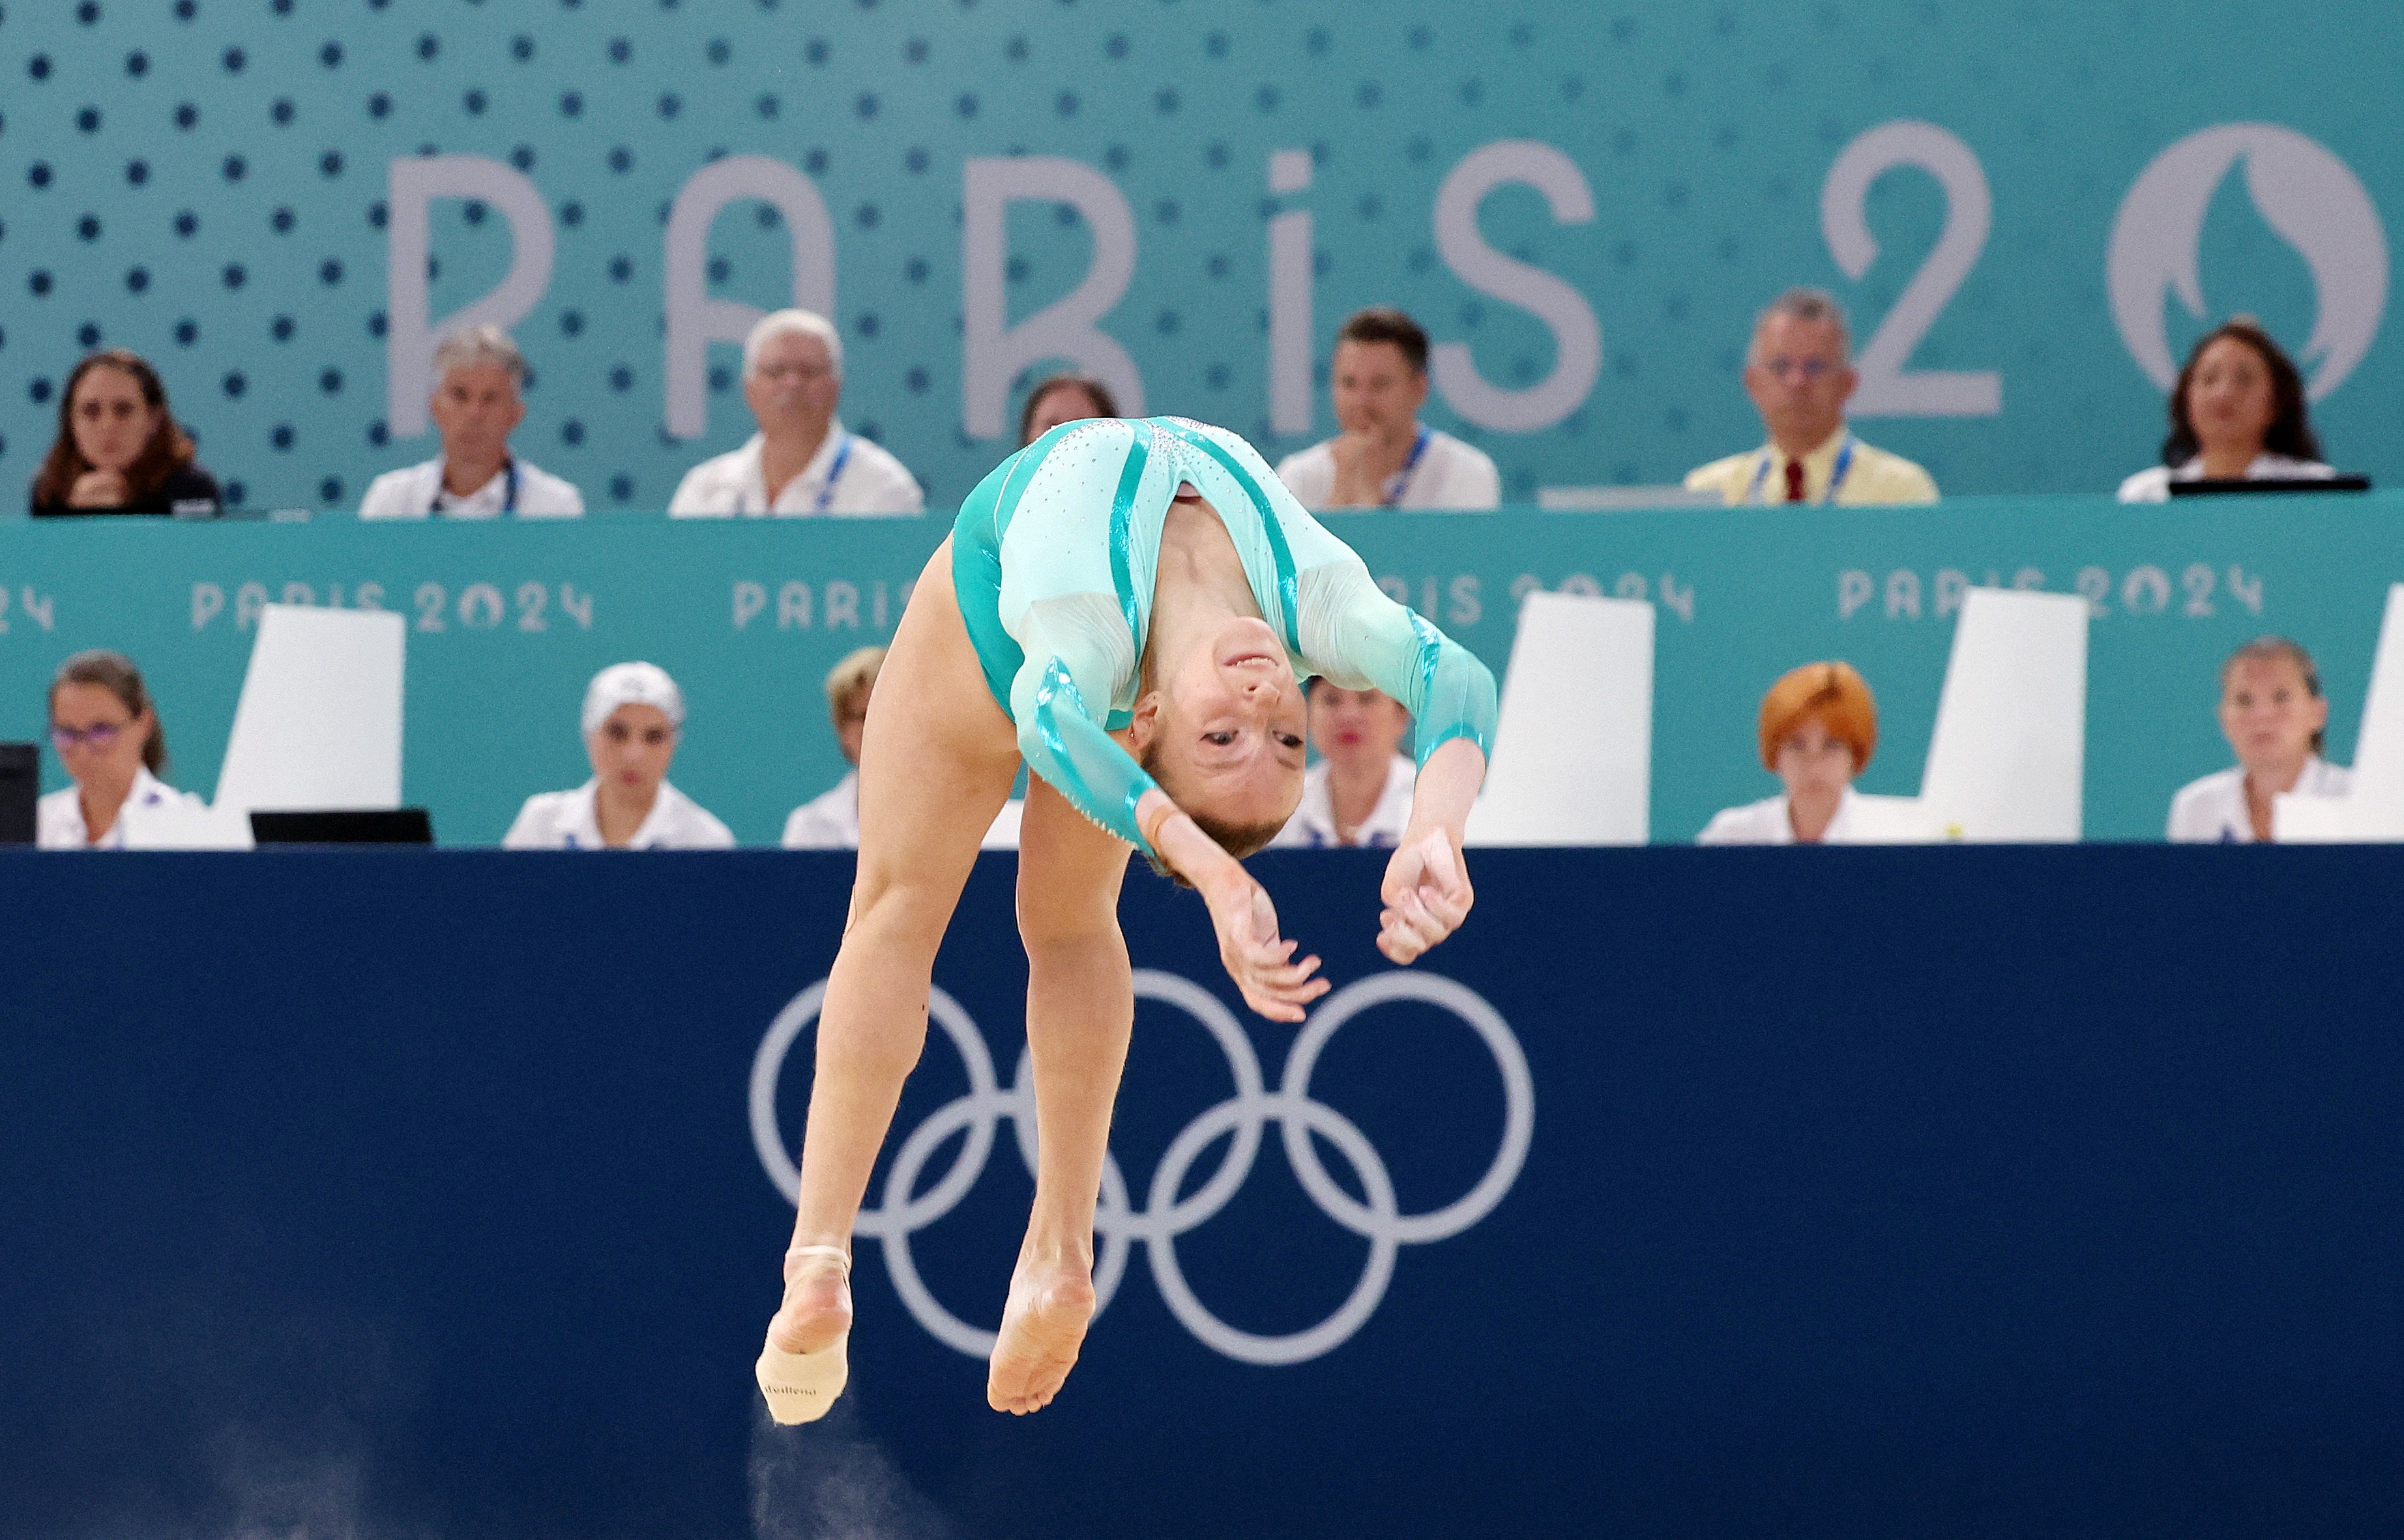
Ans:
{"type": "Polygon", "coordinates": [[[1161,526],[1180,483],[1226,521],[1296,678],[1392,694],[1418,723],[1421,764],[1454,738],[1490,752],[1493,673],[1387,598],[1248,442],[1185,418],[1096,418],[1005,459],[952,524],[959,615],[1034,774],[1152,850],[1135,802],[1154,781],[1108,733],[1135,711],[1161,526]]]}

